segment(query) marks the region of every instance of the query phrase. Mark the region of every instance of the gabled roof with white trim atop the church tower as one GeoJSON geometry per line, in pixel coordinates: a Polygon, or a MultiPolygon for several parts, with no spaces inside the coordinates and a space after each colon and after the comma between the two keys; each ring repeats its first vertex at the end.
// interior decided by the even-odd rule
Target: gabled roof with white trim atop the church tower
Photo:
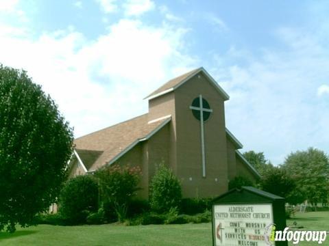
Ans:
{"type": "Polygon", "coordinates": [[[149,94],[149,96],[147,96],[146,98],[151,100],[153,98],[157,98],[158,96],[173,92],[178,87],[180,87],[180,85],[183,85],[186,81],[194,77],[199,72],[202,72],[208,78],[210,83],[215,87],[219,94],[223,96],[224,100],[228,100],[230,98],[230,96],[228,96],[228,94],[219,86],[215,79],[213,79],[210,74],[208,74],[208,72],[202,67],[192,70],[190,72],[186,72],[186,74],[182,74],[179,77],[176,77],[175,79],[171,79],[170,81],[159,87],[157,90],[149,94]]]}

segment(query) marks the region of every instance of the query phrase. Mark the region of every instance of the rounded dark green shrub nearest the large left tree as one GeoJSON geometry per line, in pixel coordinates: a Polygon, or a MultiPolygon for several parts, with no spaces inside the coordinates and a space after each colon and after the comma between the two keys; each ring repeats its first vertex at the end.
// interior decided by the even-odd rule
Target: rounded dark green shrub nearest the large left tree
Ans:
{"type": "Polygon", "coordinates": [[[97,211],[98,184],[91,176],[71,178],[60,193],[60,214],[70,223],[85,223],[97,211]]]}

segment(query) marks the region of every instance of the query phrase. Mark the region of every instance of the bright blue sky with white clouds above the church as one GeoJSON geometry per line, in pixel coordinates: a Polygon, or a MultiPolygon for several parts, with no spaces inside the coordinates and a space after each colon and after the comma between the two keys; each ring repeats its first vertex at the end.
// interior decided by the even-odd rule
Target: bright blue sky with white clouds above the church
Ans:
{"type": "Polygon", "coordinates": [[[0,0],[0,62],[56,100],[75,136],[147,112],[147,94],[203,66],[230,95],[243,151],[278,165],[329,153],[328,1],[0,0]]]}

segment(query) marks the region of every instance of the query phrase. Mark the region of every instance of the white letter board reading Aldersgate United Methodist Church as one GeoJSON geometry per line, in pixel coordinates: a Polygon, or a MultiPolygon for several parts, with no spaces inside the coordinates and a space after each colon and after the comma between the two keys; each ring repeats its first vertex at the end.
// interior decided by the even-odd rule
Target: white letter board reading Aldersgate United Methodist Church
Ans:
{"type": "Polygon", "coordinates": [[[214,204],[216,246],[267,246],[265,231],[273,223],[271,204],[214,204]]]}

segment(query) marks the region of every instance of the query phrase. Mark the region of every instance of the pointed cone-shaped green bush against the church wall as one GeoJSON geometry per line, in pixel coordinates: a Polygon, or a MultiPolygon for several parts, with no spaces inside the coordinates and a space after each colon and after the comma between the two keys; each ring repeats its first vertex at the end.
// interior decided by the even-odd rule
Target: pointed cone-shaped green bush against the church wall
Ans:
{"type": "Polygon", "coordinates": [[[166,213],[171,208],[179,208],[182,201],[180,181],[171,169],[163,164],[159,166],[151,180],[150,205],[158,213],[166,213]]]}

